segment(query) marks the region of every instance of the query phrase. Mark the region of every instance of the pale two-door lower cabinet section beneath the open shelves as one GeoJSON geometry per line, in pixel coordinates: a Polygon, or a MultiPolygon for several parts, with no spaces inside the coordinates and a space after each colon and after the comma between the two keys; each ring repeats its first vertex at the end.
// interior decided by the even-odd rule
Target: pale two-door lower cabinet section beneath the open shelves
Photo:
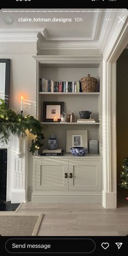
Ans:
{"type": "Polygon", "coordinates": [[[101,158],[34,157],[32,202],[101,202],[101,158]],[[77,158],[77,159],[75,159],[77,158]],[[60,196],[61,195],[61,196],[60,196]]]}

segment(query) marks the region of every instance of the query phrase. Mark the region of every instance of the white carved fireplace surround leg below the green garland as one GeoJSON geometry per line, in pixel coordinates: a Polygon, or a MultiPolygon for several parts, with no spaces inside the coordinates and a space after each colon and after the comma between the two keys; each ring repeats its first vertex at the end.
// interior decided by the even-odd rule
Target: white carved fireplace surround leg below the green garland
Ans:
{"type": "Polygon", "coordinates": [[[27,201],[28,148],[27,139],[10,136],[8,144],[0,143],[0,149],[7,149],[7,201],[27,201]]]}

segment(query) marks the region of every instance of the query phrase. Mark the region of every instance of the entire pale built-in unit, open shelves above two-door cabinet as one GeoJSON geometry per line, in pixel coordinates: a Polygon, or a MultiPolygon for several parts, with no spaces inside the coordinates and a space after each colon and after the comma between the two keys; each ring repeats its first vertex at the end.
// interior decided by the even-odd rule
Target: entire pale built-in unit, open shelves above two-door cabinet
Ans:
{"type": "Polygon", "coordinates": [[[90,139],[99,141],[99,155],[74,157],[34,157],[32,202],[101,202],[102,190],[102,57],[34,56],[37,62],[37,119],[44,129],[44,148],[54,133],[58,148],[66,152],[67,130],[87,130],[90,139]],[[40,92],[40,78],[53,81],[79,81],[90,74],[98,79],[94,93],[40,92]],[[43,122],[43,101],[63,101],[66,113],[74,112],[74,123],[43,122]],[[79,111],[92,112],[95,123],[76,123],[79,111]]]}

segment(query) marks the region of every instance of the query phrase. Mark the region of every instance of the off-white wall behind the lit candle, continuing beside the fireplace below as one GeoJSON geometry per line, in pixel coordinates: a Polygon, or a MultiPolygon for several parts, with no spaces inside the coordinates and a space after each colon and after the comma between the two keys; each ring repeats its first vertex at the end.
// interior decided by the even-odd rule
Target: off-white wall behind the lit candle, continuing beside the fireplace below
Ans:
{"type": "MultiPolygon", "coordinates": [[[[0,58],[11,59],[9,107],[16,112],[21,110],[23,95],[24,112],[35,116],[36,103],[36,42],[0,42],[0,58]]],[[[28,140],[28,148],[31,144],[28,140]]],[[[28,186],[32,186],[33,158],[28,158],[28,186]]]]}

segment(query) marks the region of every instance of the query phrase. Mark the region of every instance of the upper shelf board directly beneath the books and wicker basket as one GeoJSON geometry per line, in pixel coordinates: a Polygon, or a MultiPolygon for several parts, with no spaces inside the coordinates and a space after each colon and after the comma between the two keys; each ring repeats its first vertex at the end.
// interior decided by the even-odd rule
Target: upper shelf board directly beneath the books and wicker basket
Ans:
{"type": "Polygon", "coordinates": [[[43,95],[84,95],[84,96],[98,96],[100,92],[39,92],[39,94],[43,95]]]}

